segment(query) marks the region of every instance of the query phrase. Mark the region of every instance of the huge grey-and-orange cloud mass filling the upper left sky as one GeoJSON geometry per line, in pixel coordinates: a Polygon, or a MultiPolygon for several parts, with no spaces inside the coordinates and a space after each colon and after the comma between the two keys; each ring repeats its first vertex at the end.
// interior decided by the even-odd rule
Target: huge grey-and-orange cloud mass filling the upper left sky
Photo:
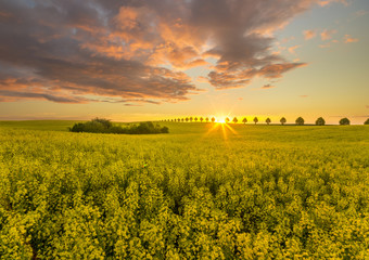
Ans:
{"type": "Polygon", "coordinates": [[[3,0],[0,100],[183,101],[201,91],[183,70],[208,56],[216,89],[279,78],[304,63],[272,54],[271,32],[315,2],[3,0]]]}

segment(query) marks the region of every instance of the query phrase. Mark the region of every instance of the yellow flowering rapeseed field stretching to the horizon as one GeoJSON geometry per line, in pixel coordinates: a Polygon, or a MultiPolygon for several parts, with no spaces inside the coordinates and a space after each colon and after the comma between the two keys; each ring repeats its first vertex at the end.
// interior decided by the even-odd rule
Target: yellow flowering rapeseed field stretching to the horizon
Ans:
{"type": "Polygon", "coordinates": [[[369,256],[369,126],[75,122],[0,121],[0,258],[369,256]]]}

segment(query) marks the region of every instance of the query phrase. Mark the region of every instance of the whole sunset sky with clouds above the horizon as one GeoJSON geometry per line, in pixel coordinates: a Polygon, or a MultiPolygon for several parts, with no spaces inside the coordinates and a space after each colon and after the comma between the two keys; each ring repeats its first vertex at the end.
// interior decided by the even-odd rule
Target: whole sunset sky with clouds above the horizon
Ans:
{"type": "Polygon", "coordinates": [[[1,0],[0,120],[369,117],[368,0],[1,0]]]}

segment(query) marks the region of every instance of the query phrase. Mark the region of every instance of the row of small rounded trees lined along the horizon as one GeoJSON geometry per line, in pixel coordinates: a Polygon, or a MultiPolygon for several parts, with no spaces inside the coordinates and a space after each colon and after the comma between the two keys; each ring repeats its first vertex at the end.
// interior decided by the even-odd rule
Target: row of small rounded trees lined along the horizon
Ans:
{"type": "MultiPolygon", "coordinates": [[[[205,117],[205,118],[204,118],[204,117],[200,117],[200,118],[198,118],[198,117],[183,117],[183,118],[164,119],[164,120],[162,120],[162,121],[174,121],[174,122],[192,122],[192,121],[194,121],[194,122],[198,122],[198,121],[203,122],[203,121],[204,121],[204,122],[215,122],[215,121],[216,121],[216,118],[215,118],[215,117],[212,117],[212,118],[208,118],[208,117],[205,117]]],[[[232,122],[233,122],[233,123],[237,123],[238,121],[239,121],[239,119],[238,119],[237,117],[233,117],[232,122]]],[[[254,123],[256,125],[259,120],[258,120],[257,117],[254,117],[253,121],[254,121],[254,123]]],[[[280,123],[283,126],[283,125],[287,122],[287,119],[285,119],[285,117],[282,117],[279,121],[280,121],[280,123]]],[[[225,122],[229,123],[229,122],[230,122],[230,119],[229,119],[228,117],[226,117],[225,122]]],[[[246,122],[247,122],[247,118],[244,117],[244,118],[242,119],[242,122],[243,122],[243,123],[246,123],[246,122]]],[[[267,125],[269,125],[269,123],[271,122],[271,119],[268,117],[268,118],[265,120],[265,122],[266,122],[267,125]]],[[[351,125],[351,121],[349,121],[349,119],[348,119],[347,117],[344,117],[344,118],[342,118],[342,119],[339,121],[339,123],[340,123],[341,126],[347,126],[347,125],[351,125]]],[[[305,125],[305,119],[304,119],[303,117],[297,117],[296,120],[295,120],[295,125],[297,125],[297,126],[304,126],[304,125],[305,125]]],[[[319,117],[319,118],[315,121],[315,125],[316,125],[316,126],[325,126],[325,125],[326,125],[325,118],[319,117]]],[[[369,125],[369,118],[364,122],[364,125],[369,125]]]]}

